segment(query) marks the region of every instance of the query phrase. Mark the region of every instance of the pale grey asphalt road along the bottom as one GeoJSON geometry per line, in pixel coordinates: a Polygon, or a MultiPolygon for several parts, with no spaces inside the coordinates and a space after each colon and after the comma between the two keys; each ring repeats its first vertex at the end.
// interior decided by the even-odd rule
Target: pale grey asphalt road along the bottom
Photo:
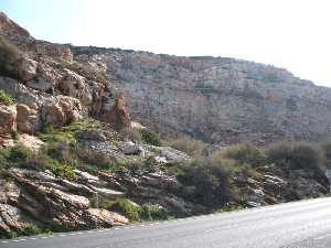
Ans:
{"type": "Polygon", "coordinates": [[[330,248],[331,197],[126,227],[21,237],[1,248],[330,248]]]}

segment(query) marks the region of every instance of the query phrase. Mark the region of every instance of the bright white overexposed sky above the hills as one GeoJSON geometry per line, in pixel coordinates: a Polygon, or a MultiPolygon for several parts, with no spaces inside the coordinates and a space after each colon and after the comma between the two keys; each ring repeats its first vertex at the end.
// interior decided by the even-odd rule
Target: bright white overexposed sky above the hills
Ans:
{"type": "Polygon", "coordinates": [[[235,57],[331,87],[330,0],[0,0],[41,40],[235,57]]]}

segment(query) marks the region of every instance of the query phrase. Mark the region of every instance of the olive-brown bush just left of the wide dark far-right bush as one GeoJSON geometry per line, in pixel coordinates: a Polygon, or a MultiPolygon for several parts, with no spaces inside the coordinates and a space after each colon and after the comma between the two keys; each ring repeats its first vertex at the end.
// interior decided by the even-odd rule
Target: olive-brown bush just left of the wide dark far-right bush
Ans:
{"type": "Polygon", "coordinates": [[[242,143],[226,148],[222,153],[224,158],[235,160],[241,164],[259,166],[266,162],[265,152],[250,143],[242,143]]]}

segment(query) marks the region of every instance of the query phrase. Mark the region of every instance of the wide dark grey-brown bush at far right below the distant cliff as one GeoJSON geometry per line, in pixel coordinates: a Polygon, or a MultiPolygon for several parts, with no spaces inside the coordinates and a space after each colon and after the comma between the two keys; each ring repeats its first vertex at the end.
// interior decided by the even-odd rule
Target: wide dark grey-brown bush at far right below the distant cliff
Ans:
{"type": "Polygon", "coordinates": [[[280,142],[268,149],[268,160],[287,170],[320,171],[324,161],[321,150],[311,143],[280,142]]]}

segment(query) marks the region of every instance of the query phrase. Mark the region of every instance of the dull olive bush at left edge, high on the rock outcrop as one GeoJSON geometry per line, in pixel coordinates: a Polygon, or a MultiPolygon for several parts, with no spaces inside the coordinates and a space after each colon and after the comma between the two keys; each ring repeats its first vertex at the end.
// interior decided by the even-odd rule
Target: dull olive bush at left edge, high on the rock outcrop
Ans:
{"type": "Polygon", "coordinates": [[[22,57],[20,50],[0,35],[0,75],[18,78],[18,63],[22,57]]]}

